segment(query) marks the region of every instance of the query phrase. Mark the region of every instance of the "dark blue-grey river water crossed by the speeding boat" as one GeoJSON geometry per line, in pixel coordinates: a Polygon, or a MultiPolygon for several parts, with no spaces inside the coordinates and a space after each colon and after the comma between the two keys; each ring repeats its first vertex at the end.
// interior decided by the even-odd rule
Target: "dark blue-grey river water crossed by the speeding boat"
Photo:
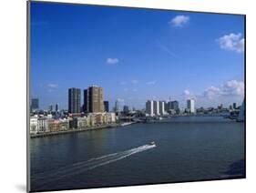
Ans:
{"type": "Polygon", "coordinates": [[[244,178],[244,126],[223,117],[173,117],[33,138],[32,190],[244,178]],[[155,141],[157,146],[148,145],[155,141]]]}

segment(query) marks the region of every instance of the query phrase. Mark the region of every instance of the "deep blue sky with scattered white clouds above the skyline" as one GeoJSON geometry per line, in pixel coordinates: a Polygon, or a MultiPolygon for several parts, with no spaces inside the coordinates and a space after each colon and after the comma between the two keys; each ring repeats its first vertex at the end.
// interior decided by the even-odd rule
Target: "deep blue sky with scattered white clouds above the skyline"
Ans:
{"type": "Polygon", "coordinates": [[[243,47],[242,15],[33,2],[31,96],[66,108],[68,87],[98,85],[111,107],[241,104],[243,47]]]}

